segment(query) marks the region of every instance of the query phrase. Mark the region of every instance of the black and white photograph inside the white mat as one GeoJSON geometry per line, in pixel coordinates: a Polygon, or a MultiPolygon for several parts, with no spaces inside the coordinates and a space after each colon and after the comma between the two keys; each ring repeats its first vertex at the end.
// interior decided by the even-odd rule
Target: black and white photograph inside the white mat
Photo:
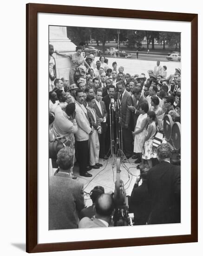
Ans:
{"type": "Polygon", "coordinates": [[[49,230],[181,223],[181,33],[48,29],[49,230]]]}

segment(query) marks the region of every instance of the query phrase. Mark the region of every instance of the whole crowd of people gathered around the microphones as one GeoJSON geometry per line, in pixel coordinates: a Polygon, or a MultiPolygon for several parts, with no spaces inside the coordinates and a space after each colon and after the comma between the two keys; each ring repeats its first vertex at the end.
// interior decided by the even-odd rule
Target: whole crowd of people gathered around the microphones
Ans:
{"type": "Polygon", "coordinates": [[[96,188],[103,193],[94,198],[92,216],[84,216],[83,186],[72,177],[76,161],[79,175],[92,177],[89,171],[102,167],[99,159],[110,156],[112,133],[116,134],[116,130],[112,130],[116,129],[115,102],[118,101],[123,152],[126,159],[132,158],[138,164],[135,168],[140,169],[143,195],[146,194],[146,198],[141,197],[142,202],[137,202],[136,190],[142,191],[137,180],[130,200],[136,214],[135,224],[180,222],[180,167],[170,164],[168,143],[158,148],[153,146],[157,131],[164,134],[165,115],[180,122],[180,68],[176,68],[174,74],[167,74],[167,67],[157,61],[151,70],[129,74],[124,67],[118,67],[116,61],[109,67],[105,56],[95,62],[93,53],[86,56],[82,47],[76,47],[75,54],[55,51],[72,63],[69,76],[56,78],[53,52],[50,45],[49,143],[63,140],[65,147],[59,150],[56,157],[59,168],[50,177],[49,229],[109,226],[115,208],[112,196],[105,194],[103,188],[96,188]],[[147,175],[142,174],[143,166],[149,169],[147,175]],[[149,178],[147,187],[144,187],[145,176],[149,178]],[[67,195],[69,199],[64,203],[67,195]],[[145,206],[145,215],[138,212],[135,204],[145,206]],[[145,216],[140,222],[139,214],[145,216]]]}

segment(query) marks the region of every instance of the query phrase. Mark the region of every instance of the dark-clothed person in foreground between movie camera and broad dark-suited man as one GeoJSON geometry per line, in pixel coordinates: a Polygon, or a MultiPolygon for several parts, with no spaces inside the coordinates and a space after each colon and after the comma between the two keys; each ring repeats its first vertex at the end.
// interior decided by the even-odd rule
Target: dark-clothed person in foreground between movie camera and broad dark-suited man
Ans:
{"type": "Polygon", "coordinates": [[[135,185],[131,192],[129,208],[134,213],[135,225],[145,225],[151,211],[151,199],[147,188],[147,164],[140,165],[140,175],[136,177],[135,185]],[[140,180],[142,184],[139,186],[140,180]]]}

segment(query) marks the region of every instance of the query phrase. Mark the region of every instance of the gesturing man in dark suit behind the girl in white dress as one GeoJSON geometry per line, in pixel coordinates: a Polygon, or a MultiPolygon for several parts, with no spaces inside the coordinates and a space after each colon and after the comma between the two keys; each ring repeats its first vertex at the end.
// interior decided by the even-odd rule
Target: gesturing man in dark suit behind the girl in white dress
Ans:
{"type": "Polygon", "coordinates": [[[138,116],[140,115],[140,105],[143,102],[147,103],[146,98],[142,95],[142,88],[139,86],[136,86],[133,90],[133,104],[132,106],[128,107],[132,111],[132,118],[133,118],[133,131],[136,127],[136,123],[138,120],[138,116]]]}

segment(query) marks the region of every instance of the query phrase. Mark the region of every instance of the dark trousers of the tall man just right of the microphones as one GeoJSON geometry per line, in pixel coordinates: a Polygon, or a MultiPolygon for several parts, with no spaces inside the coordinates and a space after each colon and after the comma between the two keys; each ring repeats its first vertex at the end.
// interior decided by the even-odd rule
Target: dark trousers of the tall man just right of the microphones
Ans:
{"type": "Polygon", "coordinates": [[[132,133],[130,128],[122,128],[123,133],[123,151],[126,157],[131,157],[132,155],[132,133]]]}

